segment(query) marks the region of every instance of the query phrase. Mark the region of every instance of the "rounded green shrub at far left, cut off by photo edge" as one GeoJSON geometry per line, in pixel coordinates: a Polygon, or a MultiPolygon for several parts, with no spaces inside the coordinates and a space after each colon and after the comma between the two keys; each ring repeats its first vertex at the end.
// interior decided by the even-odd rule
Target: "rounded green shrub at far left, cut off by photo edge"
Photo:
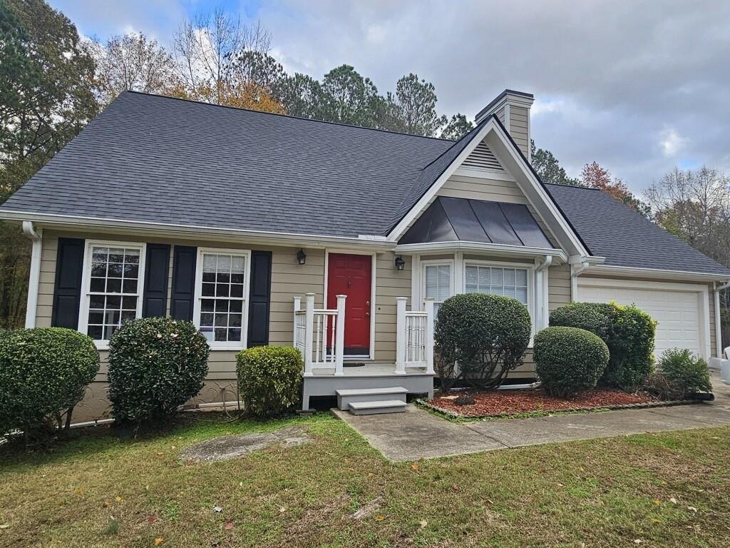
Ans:
{"type": "Polygon", "coordinates": [[[0,335],[0,435],[47,438],[68,428],[74,406],[99,372],[93,340],[75,330],[37,327],[0,335]],[[64,425],[65,422],[65,425],[64,425]]]}

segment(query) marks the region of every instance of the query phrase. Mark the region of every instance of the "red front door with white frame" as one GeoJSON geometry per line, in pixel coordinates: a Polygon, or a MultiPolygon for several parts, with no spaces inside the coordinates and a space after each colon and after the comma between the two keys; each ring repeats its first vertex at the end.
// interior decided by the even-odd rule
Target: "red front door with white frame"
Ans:
{"type": "Polygon", "coordinates": [[[327,308],[337,308],[337,295],[345,300],[345,355],[370,354],[372,256],[331,253],[327,266],[327,308]]]}

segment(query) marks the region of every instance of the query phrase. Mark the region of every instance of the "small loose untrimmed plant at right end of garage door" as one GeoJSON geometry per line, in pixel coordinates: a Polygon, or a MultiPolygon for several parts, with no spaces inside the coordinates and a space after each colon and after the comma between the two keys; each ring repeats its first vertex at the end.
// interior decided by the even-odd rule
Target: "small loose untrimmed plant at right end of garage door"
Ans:
{"type": "Polygon", "coordinates": [[[669,349],[661,354],[656,375],[645,389],[664,400],[684,400],[696,392],[710,392],[707,362],[688,349],[669,349]]]}

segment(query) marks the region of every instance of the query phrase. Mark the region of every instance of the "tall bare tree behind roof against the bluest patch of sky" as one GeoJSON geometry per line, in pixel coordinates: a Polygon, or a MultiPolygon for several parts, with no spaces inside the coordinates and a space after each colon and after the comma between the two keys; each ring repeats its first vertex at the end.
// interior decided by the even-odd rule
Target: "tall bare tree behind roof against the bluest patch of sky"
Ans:
{"type": "Polygon", "coordinates": [[[187,95],[220,104],[240,84],[237,60],[247,51],[268,52],[271,34],[261,23],[247,25],[218,7],[183,21],[173,45],[187,95]]]}

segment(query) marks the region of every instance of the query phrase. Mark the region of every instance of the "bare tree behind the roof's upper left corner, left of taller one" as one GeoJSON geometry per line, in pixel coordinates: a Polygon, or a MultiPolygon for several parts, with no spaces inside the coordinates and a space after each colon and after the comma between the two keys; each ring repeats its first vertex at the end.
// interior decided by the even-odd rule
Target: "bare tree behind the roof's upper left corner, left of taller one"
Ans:
{"type": "Polygon", "coordinates": [[[106,44],[91,42],[88,48],[96,61],[101,104],[109,104],[124,90],[166,94],[175,86],[172,55],[142,33],[111,37],[106,44]]]}

